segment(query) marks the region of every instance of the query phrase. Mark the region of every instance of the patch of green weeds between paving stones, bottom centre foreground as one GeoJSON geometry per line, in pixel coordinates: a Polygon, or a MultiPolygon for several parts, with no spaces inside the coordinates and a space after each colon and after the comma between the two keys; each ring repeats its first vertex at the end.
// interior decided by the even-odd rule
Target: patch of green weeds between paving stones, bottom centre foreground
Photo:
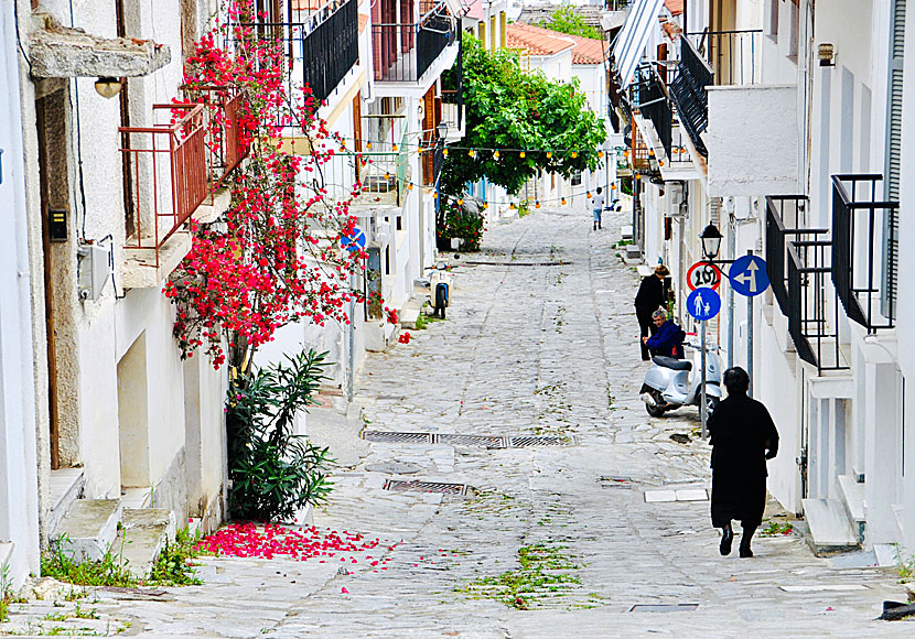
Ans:
{"type": "Polygon", "coordinates": [[[562,551],[568,546],[540,541],[518,549],[519,567],[493,577],[480,577],[459,592],[472,599],[495,599],[517,610],[537,608],[550,597],[568,595],[581,584],[574,575],[562,571],[579,570],[562,551]]]}

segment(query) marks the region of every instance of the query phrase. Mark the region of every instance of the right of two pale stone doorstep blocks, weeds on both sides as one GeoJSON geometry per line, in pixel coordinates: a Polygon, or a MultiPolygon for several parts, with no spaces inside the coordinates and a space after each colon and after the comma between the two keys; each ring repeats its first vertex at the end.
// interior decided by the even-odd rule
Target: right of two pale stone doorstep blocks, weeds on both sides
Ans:
{"type": "Polygon", "coordinates": [[[174,540],[174,513],[164,508],[125,508],[121,523],[114,550],[133,576],[144,577],[165,544],[174,540]]]}

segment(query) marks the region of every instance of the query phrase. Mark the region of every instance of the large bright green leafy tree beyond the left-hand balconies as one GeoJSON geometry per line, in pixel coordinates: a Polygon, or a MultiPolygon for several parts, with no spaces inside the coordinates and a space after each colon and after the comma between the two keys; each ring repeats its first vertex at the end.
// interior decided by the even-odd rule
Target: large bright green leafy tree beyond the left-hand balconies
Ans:
{"type": "Polygon", "coordinates": [[[588,108],[578,80],[525,73],[517,53],[488,52],[467,34],[463,71],[466,136],[460,149],[449,150],[442,167],[439,189],[444,195],[456,197],[469,182],[483,177],[517,193],[540,170],[569,177],[598,167],[606,131],[588,108]],[[498,156],[488,149],[498,149],[498,156]]]}

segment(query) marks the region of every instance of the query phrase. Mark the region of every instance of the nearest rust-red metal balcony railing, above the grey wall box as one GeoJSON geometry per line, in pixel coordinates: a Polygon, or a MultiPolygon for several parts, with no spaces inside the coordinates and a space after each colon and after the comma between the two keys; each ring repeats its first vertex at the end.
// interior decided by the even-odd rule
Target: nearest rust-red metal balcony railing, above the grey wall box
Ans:
{"type": "Polygon", "coordinates": [[[120,127],[133,232],[126,249],[154,251],[177,231],[208,193],[203,105],[154,105],[152,127],[120,127]]]}

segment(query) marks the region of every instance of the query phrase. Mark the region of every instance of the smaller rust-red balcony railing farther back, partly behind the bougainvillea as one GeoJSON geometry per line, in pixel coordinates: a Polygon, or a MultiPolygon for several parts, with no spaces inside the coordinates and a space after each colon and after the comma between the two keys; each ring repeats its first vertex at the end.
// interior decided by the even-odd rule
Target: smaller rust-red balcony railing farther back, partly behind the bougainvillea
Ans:
{"type": "Polygon", "coordinates": [[[230,87],[184,86],[182,90],[187,101],[205,107],[206,166],[212,193],[223,185],[250,150],[250,140],[239,126],[244,97],[230,87]]]}

